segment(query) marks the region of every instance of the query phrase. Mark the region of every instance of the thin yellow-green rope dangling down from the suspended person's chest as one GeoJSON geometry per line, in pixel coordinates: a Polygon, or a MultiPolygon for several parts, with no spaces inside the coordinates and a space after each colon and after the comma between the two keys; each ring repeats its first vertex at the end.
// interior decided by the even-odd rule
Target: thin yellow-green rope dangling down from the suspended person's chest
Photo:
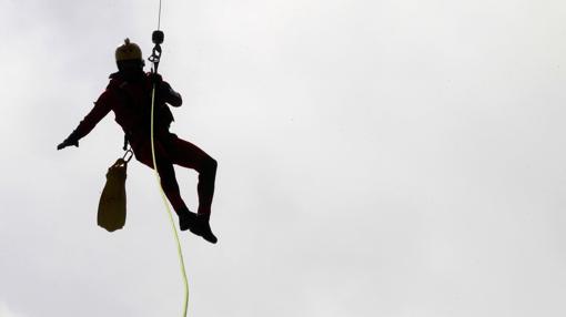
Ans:
{"type": "Polygon", "coordinates": [[[153,157],[153,171],[155,172],[155,180],[158,181],[158,186],[161,192],[161,197],[163,198],[163,203],[165,204],[165,208],[169,215],[169,222],[171,223],[171,228],[173,229],[173,236],[176,242],[176,253],[179,254],[179,264],[181,266],[181,274],[183,275],[184,283],[184,304],[183,304],[183,317],[186,317],[186,307],[189,306],[189,280],[186,279],[186,270],[184,268],[184,259],[183,259],[183,250],[181,249],[181,241],[179,239],[179,234],[176,232],[175,222],[173,221],[173,214],[171,213],[171,208],[169,207],[168,198],[165,193],[163,192],[163,187],[161,187],[161,177],[158,172],[158,164],[155,163],[155,145],[153,142],[153,109],[155,105],[155,83],[153,84],[153,90],[151,91],[151,155],[153,157]]]}

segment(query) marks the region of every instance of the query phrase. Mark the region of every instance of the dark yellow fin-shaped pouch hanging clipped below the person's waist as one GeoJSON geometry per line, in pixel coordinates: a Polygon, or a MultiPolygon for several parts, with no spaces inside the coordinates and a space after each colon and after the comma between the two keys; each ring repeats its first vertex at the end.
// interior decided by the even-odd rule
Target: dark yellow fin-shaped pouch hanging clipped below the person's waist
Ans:
{"type": "Polygon", "coordinates": [[[109,232],[121,229],[125,224],[125,172],[130,161],[125,156],[129,152],[108,168],[107,184],[100,196],[97,223],[109,232]]]}

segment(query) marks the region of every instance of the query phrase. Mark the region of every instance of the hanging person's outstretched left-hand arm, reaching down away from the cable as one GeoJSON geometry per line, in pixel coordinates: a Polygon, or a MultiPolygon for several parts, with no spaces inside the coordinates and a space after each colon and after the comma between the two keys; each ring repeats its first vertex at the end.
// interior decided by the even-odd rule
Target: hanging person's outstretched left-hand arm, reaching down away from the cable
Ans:
{"type": "Polygon", "coordinates": [[[111,110],[111,95],[107,90],[100,95],[99,100],[94,102],[94,108],[84,116],[81,123],[79,123],[79,126],[57,146],[57,150],[71,145],[79,146],[79,140],[87,136],[111,110]]]}

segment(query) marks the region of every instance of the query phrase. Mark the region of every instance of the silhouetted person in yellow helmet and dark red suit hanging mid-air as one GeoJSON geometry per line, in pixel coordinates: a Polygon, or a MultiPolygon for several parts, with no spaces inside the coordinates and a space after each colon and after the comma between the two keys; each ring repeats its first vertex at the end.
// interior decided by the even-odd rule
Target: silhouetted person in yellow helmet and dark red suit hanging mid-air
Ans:
{"type": "Polygon", "coordinates": [[[151,152],[151,93],[155,84],[154,104],[154,147],[161,186],[171,202],[181,231],[190,229],[211,243],[216,237],[210,227],[216,161],[194,144],[179,139],[169,132],[173,115],[166,104],[181,106],[181,95],[171,89],[159,74],[145,73],[140,47],[125,39],[115,50],[118,72],[110,75],[107,90],[94,103],[94,108],[80,122],[79,126],[57,146],[79,146],[79,140],[89,134],[110,111],[115,122],[122,126],[135,158],[153,168],[151,152]],[[192,213],[181,198],[173,164],[193,168],[199,173],[199,211],[192,213]]]}

